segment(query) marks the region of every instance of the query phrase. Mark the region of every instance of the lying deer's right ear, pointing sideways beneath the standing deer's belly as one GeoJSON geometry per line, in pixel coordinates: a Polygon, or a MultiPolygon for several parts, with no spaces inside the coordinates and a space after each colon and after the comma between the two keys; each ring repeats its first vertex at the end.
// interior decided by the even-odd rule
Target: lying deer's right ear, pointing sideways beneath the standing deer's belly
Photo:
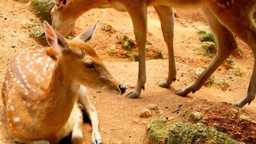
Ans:
{"type": "Polygon", "coordinates": [[[98,23],[95,24],[93,27],[88,28],[87,30],[82,32],[79,36],[76,36],[76,39],[80,39],[84,42],[88,42],[89,40],[92,39],[97,27],[98,27],[98,23]]]}

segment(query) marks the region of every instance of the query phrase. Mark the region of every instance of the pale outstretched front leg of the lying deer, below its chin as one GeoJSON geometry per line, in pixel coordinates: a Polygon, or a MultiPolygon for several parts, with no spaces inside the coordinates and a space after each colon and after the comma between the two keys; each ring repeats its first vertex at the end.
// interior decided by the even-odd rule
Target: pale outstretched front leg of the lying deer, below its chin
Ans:
{"type": "Polygon", "coordinates": [[[98,114],[96,112],[96,109],[92,104],[90,103],[90,100],[86,96],[86,89],[84,86],[80,86],[80,92],[78,93],[79,95],[79,100],[80,103],[84,107],[84,111],[87,113],[88,117],[91,120],[92,123],[92,144],[101,144],[103,143],[103,140],[100,136],[99,132],[99,118],[98,114]]]}

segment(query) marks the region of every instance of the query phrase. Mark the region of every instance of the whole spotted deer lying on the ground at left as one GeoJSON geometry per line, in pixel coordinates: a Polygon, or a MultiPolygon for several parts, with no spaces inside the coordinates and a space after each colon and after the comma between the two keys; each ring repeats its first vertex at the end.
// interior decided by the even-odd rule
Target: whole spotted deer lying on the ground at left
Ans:
{"type": "Polygon", "coordinates": [[[120,94],[125,87],[85,43],[96,25],[74,40],[64,39],[47,22],[44,28],[51,48],[21,53],[4,76],[2,98],[11,134],[20,143],[56,144],[72,132],[72,143],[82,144],[82,107],[92,122],[92,144],[100,144],[98,116],[85,87],[120,94]]]}

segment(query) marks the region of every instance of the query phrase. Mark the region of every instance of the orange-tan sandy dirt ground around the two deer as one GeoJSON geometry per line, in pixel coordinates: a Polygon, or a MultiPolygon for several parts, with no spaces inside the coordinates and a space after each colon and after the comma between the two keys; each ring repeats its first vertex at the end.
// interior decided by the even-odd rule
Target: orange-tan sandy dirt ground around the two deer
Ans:
{"type": "MultiPolygon", "coordinates": [[[[238,44],[244,53],[244,58],[234,57],[233,59],[236,62],[236,67],[243,73],[243,77],[226,74],[227,68],[224,64],[214,73],[215,76],[222,77],[226,81],[229,85],[227,90],[222,90],[213,85],[212,87],[202,87],[198,92],[189,94],[187,97],[180,97],[174,94],[176,90],[192,84],[194,81],[191,78],[193,77],[192,71],[195,68],[206,68],[209,64],[209,62],[205,61],[204,56],[197,52],[197,48],[202,43],[196,31],[198,28],[207,24],[202,12],[200,10],[176,9],[176,14],[178,17],[175,20],[174,46],[178,80],[172,84],[171,88],[166,89],[157,86],[167,77],[167,48],[162,36],[158,16],[154,9],[149,7],[148,40],[151,41],[155,48],[163,53],[164,60],[147,60],[146,89],[141,93],[140,98],[126,99],[125,95],[111,96],[104,92],[88,91],[88,96],[99,114],[100,133],[105,144],[141,144],[144,140],[146,124],[153,118],[163,116],[172,117],[168,121],[171,124],[178,120],[189,121],[186,118],[183,119],[180,117],[180,114],[186,111],[185,109],[181,109],[182,111],[180,112],[173,111],[180,104],[189,105],[192,108],[198,104],[205,107],[204,103],[195,104],[193,101],[196,98],[205,99],[210,102],[227,102],[233,104],[245,96],[252,73],[253,56],[250,48],[241,40],[238,40],[238,44]],[[139,112],[148,104],[156,104],[159,112],[154,113],[150,118],[140,118],[139,112]],[[139,121],[138,123],[134,122],[136,119],[139,121]]],[[[0,80],[2,80],[3,73],[12,56],[28,50],[46,48],[29,37],[30,29],[26,26],[28,20],[33,20],[42,25],[40,20],[36,18],[35,13],[32,12],[29,3],[21,4],[14,0],[0,0],[0,80]]],[[[126,33],[127,36],[134,39],[132,21],[128,13],[117,12],[112,8],[92,9],[86,12],[77,20],[73,34],[79,34],[83,29],[92,26],[98,20],[104,20],[115,28],[116,31],[126,33]]],[[[116,36],[116,34],[110,34],[98,29],[90,44],[96,48],[96,51],[100,52],[105,64],[113,72],[114,76],[124,83],[136,84],[138,62],[108,54],[111,45],[117,46],[117,41],[113,40],[113,36],[116,36]]],[[[132,88],[129,88],[126,93],[132,90],[132,88]]],[[[212,117],[215,114],[222,115],[225,112],[221,106],[221,104],[218,104],[215,107],[220,112],[212,113],[212,117]]],[[[227,108],[234,107],[228,104],[227,108]]],[[[244,106],[242,109],[238,109],[240,115],[248,115],[252,120],[255,120],[256,101],[244,106]]],[[[227,114],[223,116],[228,119],[231,115],[227,114]]],[[[237,115],[232,118],[239,119],[237,115]]],[[[225,121],[226,119],[224,121],[211,120],[209,120],[208,126],[213,126],[214,123],[227,123],[229,124],[228,126],[232,126],[232,123],[230,124],[228,121],[225,121]]],[[[236,140],[250,143],[249,140],[246,140],[246,135],[255,136],[255,127],[250,129],[250,133],[242,133],[240,137],[232,134],[232,132],[234,133],[241,128],[241,125],[238,127],[234,127],[233,125],[233,128],[229,128],[227,133],[231,134],[236,140]]],[[[85,144],[91,143],[91,133],[91,125],[85,123],[83,127],[85,144]]],[[[255,140],[256,137],[253,139],[255,140]]],[[[2,100],[0,100],[0,143],[13,143],[12,137],[9,134],[8,125],[6,124],[2,100]]]]}

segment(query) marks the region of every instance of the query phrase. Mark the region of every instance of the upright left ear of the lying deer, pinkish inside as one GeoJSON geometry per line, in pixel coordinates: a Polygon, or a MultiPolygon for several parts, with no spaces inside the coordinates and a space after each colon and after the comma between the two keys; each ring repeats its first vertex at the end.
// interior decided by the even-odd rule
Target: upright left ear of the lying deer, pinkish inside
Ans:
{"type": "Polygon", "coordinates": [[[57,52],[62,53],[65,48],[68,48],[68,43],[63,36],[56,32],[48,22],[44,21],[45,36],[48,44],[57,52]]]}

